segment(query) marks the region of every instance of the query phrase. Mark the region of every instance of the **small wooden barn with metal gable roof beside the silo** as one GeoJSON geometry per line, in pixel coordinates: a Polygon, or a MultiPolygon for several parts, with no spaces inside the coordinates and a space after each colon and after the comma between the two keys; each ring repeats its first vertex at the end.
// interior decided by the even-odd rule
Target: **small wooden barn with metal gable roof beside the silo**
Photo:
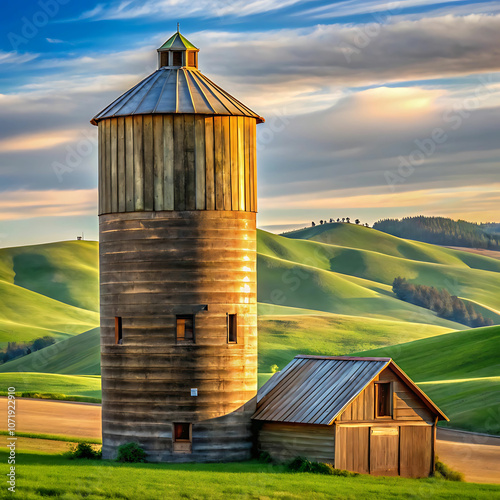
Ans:
{"type": "Polygon", "coordinates": [[[363,474],[425,477],[446,415],[390,358],[296,356],[257,396],[260,451],[363,474]]]}

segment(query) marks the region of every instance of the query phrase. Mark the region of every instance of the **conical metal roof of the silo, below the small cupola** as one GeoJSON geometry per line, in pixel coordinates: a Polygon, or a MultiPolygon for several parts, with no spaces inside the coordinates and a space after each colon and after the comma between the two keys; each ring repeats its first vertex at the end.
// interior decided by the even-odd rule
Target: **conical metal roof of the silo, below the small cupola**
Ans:
{"type": "Polygon", "coordinates": [[[160,68],[125,92],[92,120],[149,114],[205,114],[264,118],[194,68],[160,68]]]}

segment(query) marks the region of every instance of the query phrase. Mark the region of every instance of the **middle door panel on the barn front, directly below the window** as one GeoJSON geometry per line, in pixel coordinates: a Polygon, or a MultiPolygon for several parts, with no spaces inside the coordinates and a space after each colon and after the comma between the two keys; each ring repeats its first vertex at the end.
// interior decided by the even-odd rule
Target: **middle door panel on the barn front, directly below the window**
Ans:
{"type": "Polygon", "coordinates": [[[399,473],[399,428],[370,429],[370,474],[397,476],[399,473]]]}

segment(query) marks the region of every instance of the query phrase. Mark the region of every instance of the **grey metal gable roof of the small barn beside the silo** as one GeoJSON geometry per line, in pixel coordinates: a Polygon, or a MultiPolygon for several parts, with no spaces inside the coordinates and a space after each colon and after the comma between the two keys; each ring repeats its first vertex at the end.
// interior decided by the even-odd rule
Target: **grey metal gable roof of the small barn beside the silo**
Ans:
{"type": "Polygon", "coordinates": [[[396,373],[442,419],[439,408],[391,358],[296,356],[258,392],[255,420],[330,425],[386,367],[396,373]]]}

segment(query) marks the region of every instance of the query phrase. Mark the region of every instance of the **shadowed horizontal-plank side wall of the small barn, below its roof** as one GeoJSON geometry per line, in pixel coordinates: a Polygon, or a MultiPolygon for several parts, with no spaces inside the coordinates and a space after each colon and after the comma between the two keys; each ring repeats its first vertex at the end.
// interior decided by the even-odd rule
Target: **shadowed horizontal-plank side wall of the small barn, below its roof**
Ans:
{"type": "Polygon", "coordinates": [[[275,460],[306,457],[317,462],[335,461],[333,426],[264,422],[259,430],[259,450],[275,460]]]}

